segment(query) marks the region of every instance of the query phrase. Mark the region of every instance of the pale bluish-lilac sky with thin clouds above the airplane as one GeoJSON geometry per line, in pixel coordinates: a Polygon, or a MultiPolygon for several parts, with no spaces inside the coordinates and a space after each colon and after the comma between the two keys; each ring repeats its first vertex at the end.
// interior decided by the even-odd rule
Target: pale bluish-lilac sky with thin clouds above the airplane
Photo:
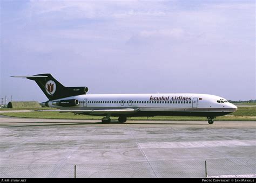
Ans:
{"type": "Polygon", "coordinates": [[[0,98],[47,101],[51,73],[88,94],[256,99],[254,1],[1,0],[0,98]]]}

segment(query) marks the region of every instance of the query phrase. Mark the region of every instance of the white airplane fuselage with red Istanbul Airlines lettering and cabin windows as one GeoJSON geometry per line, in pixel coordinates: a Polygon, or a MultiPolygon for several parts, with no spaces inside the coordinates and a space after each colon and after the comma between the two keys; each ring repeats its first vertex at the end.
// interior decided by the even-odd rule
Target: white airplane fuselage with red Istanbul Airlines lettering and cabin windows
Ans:
{"type": "MultiPolygon", "coordinates": [[[[222,116],[237,110],[235,105],[223,97],[207,94],[94,94],[58,100],[49,101],[49,107],[91,110],[133,108],[139,111],[127,116],[222,116]],[[73,107],[53,105],[55,101],[70,99],[77,99],[79,104],[73,107]]],[[[114,112],[111,114],[119,115],[114,112]]]]}

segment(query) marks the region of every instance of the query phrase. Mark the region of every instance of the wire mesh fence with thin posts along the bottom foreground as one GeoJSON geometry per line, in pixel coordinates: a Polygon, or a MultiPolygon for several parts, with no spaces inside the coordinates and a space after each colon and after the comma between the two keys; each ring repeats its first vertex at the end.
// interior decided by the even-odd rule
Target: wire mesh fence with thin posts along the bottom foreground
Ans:
{"type": "Polygon", "coordinates": [[[4,178],[256,178],[255,159],[41,164],[0,167],[4,178]]]}

